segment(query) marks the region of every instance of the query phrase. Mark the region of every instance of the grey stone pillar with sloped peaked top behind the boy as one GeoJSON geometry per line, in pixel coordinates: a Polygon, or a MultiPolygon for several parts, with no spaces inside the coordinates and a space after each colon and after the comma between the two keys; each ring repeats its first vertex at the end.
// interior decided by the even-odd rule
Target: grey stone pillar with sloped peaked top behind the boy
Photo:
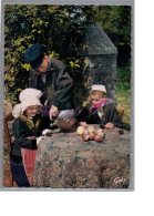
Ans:
{"type": "Polygon", "coordinates": [[[90,90],[92,84],[104,84],[107,97],[116,104],[116,55],[117,50],[97,23],[84,28],[79,54],[85,56],[86,78],[90,90]]]}

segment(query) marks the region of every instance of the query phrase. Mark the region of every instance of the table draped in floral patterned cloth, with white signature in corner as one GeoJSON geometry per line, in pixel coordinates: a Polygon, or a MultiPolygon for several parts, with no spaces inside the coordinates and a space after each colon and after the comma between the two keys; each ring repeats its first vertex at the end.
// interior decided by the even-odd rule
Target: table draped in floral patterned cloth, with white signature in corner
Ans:
{"type": "Polygon", "coordinates": [[[104,130],[102,143],[83,142],[75,131],[55,130],[40,143],[34,187],[129,188],[130,133],[104,130]]]}

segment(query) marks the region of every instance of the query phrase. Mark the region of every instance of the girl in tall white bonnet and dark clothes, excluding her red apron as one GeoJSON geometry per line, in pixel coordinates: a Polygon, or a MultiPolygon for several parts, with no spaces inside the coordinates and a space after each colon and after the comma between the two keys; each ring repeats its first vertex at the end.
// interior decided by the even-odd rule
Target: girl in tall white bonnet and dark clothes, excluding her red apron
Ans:
{"type": "Polygon", "coordinates": [[[42,106],[40,96],[39,90],[23,90],[19,95],[21,103],[12,111],[16,120],[12,125],[14,142],[11,152],[11,171],[18,186],[30,186],[22,163],[21,147],[37,150],[43,138],[42,132],[51,133],[49,117],[42,117],[40,114],[42,106]]]}

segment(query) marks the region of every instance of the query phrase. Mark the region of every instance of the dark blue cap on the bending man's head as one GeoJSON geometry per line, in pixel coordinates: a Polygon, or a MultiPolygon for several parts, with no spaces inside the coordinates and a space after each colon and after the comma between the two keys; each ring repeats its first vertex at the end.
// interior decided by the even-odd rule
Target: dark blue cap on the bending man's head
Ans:
{"type": "Polygon", "coordinates": [[[42,51],[42,47],[40,43],[34,43],[30,48],[28,48],[24,52],[25,62],[31,64],[33,70],[40,68],[44,59],[44,53],[42,51]]]}

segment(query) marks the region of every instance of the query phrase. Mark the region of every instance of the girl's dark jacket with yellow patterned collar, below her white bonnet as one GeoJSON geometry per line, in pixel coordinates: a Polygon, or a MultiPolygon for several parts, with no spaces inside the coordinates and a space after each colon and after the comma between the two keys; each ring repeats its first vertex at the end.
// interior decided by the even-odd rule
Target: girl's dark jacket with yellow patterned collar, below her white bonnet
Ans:
{"type": "Polygon", "coordinates": [[[37,140],[28,140],[28,137],[40,136],[42,131],[49,128],[49,117],[42,117],[41,115],[35,115],[32,120],[24,115],[16,119],[12,125],[14,142],[11,156],[21,157],[20,147],[37,150],[37,140]]]}

